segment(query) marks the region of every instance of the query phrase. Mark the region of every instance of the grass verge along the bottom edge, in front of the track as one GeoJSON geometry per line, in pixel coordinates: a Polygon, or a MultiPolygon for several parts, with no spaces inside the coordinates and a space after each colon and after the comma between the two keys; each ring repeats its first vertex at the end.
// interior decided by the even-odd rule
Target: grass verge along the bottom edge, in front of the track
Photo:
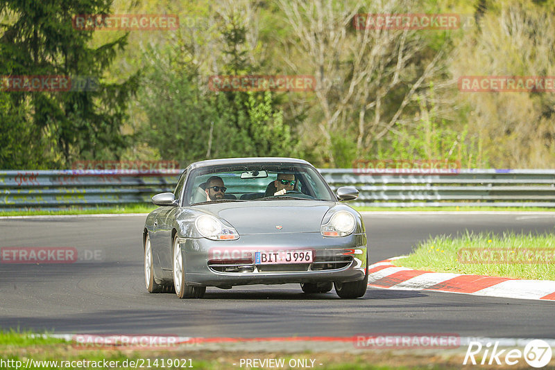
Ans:
{"type": "MultiPolygon", "coordinates": [[[[248,345],[245,347],[248,348],[248,345]]],[[[401,353],[384,350],[359,353],[216,351],[179,347],[165,351],[131,351],[125,348],[96,350],[82,349],[71,342],[31,333],[0,332],[0,369],[459,369],[462,355],[436,351],[408,353],[407,350],[401,353]],[[241,359],[276,359],[283,360],[285,365],[240,366],[241,359]],[[293,360],[293,366],[290,360],[293,360]],[[298,366],[300,363],[310,366],[298,366]]]]}

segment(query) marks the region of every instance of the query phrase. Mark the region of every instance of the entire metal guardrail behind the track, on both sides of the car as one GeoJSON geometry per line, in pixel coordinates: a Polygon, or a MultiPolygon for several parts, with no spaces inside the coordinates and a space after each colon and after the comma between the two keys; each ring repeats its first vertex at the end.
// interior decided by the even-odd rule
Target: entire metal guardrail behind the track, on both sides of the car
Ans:
{"type": "MultiPolygon", "coordinates": [[[[0,171],[0,210],[95,208],[150,203],[173,191],[182,170],[0,171]]],[[[555,207],[555,170],[459,170],[446,175],[375,175],[321,169],[335,191],[355,186],[355,206],[555,207]]]]}

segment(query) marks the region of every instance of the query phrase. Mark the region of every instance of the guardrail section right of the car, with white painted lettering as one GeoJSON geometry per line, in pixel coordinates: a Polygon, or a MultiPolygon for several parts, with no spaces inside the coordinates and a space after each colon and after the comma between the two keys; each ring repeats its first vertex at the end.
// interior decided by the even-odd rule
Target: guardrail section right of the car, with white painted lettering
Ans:
{"type": "Polygon", "coordinates": [[[332,189],[355,186],[357,206],[555,206],[555,170],[457,170],[443,175],[373,175],[321,170],[332,189]]]}

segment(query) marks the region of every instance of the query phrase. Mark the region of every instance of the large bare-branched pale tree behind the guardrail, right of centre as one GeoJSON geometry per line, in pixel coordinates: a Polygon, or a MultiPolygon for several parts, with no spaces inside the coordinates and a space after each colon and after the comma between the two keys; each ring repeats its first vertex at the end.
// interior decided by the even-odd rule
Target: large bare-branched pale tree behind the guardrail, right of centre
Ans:
{"type": "Polygon", "coordinates": [[[429,96],[430,81],[436,80],[436,91],[451,83],[440,78],[447,45],[434,48],[434,37],[353,25],[358,13],[416,12],[411,1],[378,1],[368,7],[361,1],[278,3],[296,36],[284,42],[284,49],[297,51],[284,55],[287,64],[295,73],[316,77],[320,112],[314,131],[325,139],[322,152],[330,166],[336,166],[345,148],[360,157],[373,143],[395,134],[396,127],[413,123],[407,109],[418,94],[429,96]]]}

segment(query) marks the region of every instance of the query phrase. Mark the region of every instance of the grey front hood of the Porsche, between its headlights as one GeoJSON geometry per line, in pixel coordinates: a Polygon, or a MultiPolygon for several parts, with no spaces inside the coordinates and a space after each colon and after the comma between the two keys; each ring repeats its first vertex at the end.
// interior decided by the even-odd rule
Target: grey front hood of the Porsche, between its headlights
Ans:
{"type": "Polygon", "coordinates": [[[321,222],[336,202],[267,200],[206,204],[206,211],[229,222],[240,235],[320,232],[321,222]]]}

